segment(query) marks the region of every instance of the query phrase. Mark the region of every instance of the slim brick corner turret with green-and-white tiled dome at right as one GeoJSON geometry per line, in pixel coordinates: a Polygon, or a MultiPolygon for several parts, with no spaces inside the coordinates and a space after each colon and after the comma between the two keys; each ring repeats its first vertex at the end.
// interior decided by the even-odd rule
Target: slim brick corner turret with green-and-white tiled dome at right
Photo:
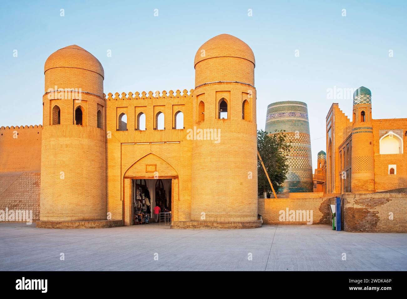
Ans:
{"type": "Polygon", "coordinates": [[[374,192],[372,93],[359,87],[353,94],[352,192],[374,192]]]}

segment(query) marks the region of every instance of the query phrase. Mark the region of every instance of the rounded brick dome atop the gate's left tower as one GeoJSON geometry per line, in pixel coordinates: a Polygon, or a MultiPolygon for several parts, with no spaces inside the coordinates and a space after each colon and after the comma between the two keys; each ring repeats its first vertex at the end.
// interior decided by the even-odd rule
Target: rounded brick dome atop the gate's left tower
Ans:
{"type": "Polygon", "coordinates": [[[102,64],[96,57],[85,49],[72,45],[53,52],[45,62],[44,74],[51,68],[80,68],[100,74],[103,78],[105,72],[102,64]]]}

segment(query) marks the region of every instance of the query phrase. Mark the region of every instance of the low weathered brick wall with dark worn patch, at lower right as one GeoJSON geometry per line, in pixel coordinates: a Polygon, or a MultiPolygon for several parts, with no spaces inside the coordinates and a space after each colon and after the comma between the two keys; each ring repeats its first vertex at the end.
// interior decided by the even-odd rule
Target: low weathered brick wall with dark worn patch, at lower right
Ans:
{"type": "Polygon", "coordinates": [[[344,194],[345,231],[407,232],[407,193],[344,194]]]}

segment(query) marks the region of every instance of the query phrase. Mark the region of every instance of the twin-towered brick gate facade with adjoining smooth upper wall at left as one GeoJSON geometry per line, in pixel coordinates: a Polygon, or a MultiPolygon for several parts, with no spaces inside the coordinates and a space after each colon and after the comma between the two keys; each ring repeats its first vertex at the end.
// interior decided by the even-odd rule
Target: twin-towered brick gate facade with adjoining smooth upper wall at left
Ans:
{"type": "Polygon", "coordinates": [[[73,45],[48,57],[44,127],[25,137],[34,155],[21,151],[33,165],[12,160],[13,150],[24,146],[10,134],[0,139],[7,154],[0,172],[41,168],[39,227],[130,225],[132,179],[172,180],[173,227],[260,225],[254,54],[223,34],[198,49],[194,66],[195,89],[189,92],[106,96],[103,67],[91,53],[73,45]],[[178,113],[184,117],[179,128],[178,113]]]}

